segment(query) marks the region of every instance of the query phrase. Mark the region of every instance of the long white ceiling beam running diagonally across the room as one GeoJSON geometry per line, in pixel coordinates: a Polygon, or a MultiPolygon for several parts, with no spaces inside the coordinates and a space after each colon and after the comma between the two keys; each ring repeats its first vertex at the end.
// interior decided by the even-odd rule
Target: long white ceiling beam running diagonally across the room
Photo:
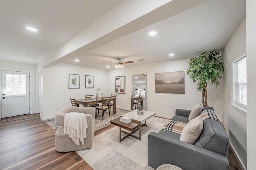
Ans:
{"type": "Polygon", "coordinates": [[[41,63],[50,67],[91,51],[208,0],[125,0],[64,43],[41,63]]]}

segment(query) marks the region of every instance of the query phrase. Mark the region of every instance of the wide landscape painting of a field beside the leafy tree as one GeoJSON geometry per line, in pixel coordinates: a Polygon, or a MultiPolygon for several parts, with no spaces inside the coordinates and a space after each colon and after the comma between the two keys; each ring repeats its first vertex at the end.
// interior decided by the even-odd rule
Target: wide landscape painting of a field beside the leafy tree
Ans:
{"type": "Polygon", "coordinates": [[[156,93],[185,94],[184,71],[155,73],[156,93]]]}

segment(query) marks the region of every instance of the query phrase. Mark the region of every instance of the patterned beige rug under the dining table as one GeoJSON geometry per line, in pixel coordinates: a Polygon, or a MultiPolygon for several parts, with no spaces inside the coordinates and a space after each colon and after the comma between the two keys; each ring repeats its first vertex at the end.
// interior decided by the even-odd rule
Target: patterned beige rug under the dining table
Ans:
{"type": "MultiPolygon", "coordinates": [[[[97,111],[97,117],[95,118],[95,131],[98,129],[101,129],[103,127],[106,127],[107,125],[110,125],[110,120],[116,119],[117,117],[120,117],[120,115],[129,112],[128,110],[123,109],[116,109],[116,114],[113,114],[113,111],[110,111],[110,117],[108,111],[105,111],[104,113],[104,120],[102,120],[102,111],[97,111]]],[[[58,129],[58,126],[55,123],[55,118],[47,119],[45,120],[45,123],[47,123],[52,129],[55,131],[58,129]]]]}

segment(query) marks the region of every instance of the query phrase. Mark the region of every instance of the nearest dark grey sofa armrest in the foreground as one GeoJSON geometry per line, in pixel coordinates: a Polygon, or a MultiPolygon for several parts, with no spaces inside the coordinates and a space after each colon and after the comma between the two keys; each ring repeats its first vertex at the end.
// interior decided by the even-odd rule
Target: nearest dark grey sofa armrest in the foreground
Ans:
{"type": "Polygon", "coordinates": [[[148,165],[173,164],[183,170],[228,170],[226,156],[158,133],[148,135],[148,165]]]}

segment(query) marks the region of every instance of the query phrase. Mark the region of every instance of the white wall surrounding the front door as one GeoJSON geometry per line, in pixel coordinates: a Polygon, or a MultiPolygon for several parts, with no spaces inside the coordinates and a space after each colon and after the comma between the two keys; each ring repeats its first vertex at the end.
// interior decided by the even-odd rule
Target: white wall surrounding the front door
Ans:
{"type": "MultiPolygon", "coordinates": [[[[0,70],[30,72],[30,113],[36,113],[36,100],[35,100],[36,99],[36,65],[0,61],[0,70]]],[[[0,75],[0,80],[1,80],[1,75],[0,75]]],[[[0,83],[0,86],[1,86],[1,83],[0,83]]],[[[1,112],[1,105],[0,105],[0,112],[1,112]]]]}

